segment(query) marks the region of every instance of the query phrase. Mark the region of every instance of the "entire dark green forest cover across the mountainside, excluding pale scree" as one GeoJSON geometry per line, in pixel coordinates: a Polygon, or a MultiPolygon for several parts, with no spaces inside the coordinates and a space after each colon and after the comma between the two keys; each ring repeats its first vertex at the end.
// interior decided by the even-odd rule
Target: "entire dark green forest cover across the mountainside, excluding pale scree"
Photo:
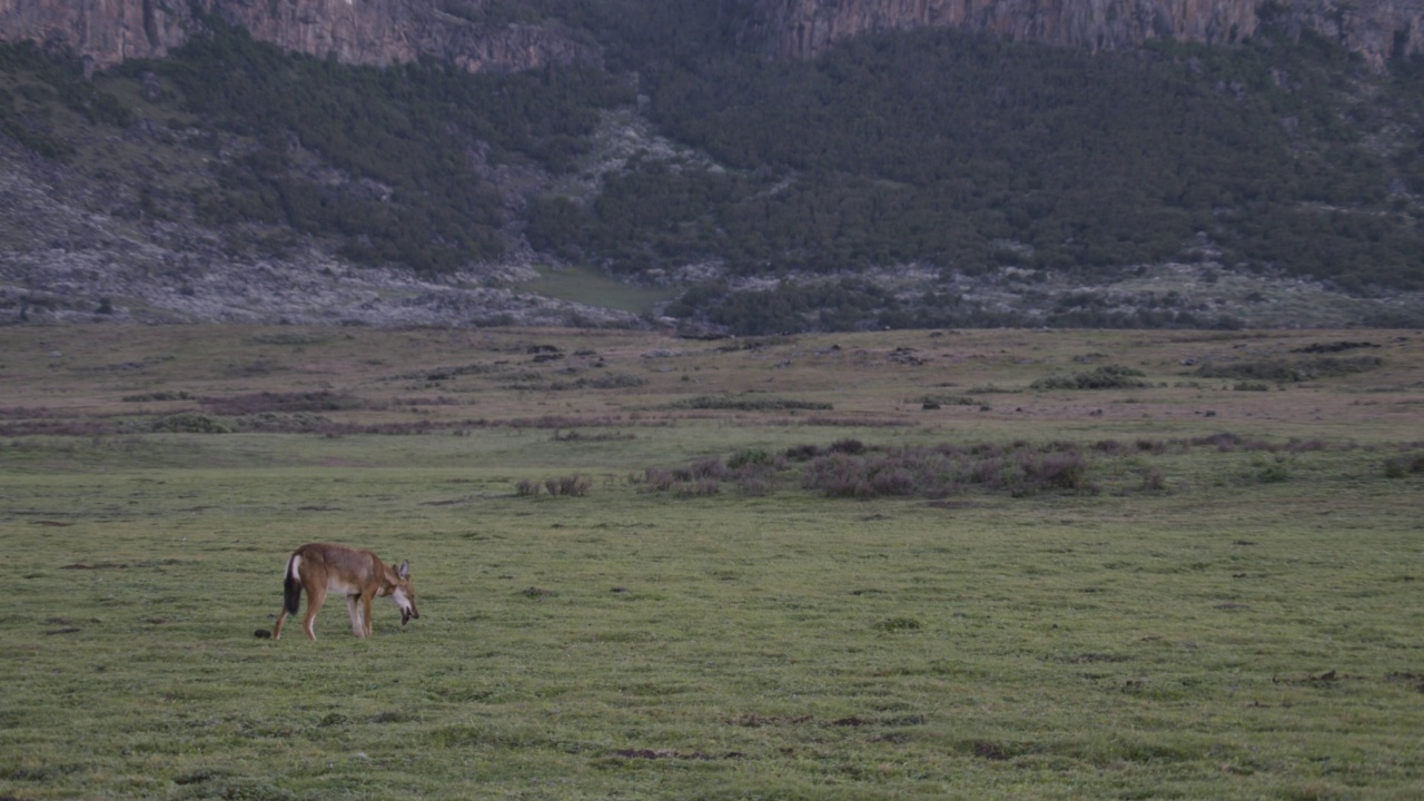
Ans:
{"type": "MultiPolygon", "coordinates": [[[[157,74],[172,90],[168,124],[198,120],[218,191],[189,200],[218,229],[326,237],[353,262],[423,274],[498,259],[523,235],[550,259],[631,281],[703,262],[733,281],[834,277],[755,294],[716,279],[668,308],[743,334],[1017,322],[953,294],[906,302],[863,278],[911,264],[1092,284],[1210,261],[1351,294],[1424,289],[1420,60],[1371,71],[1266,20],[1229,47],[1091,54],[924,30],[776,61],[735,43],[725,4],[443,1],[476,23],[577,31],[602,47],[602,68],[346,67],[209,20],[171,58],[105,80],[157,74]],[[547,188],[580,171],[602,111],[634,107],[708,158],[635,158],[595,194],[547,188]],[[500,165],[548,180],[514,190],[491,178],[500,165]]],[[[94,125],[135,123],[77,61],[28,46],[3,56],[37,78],[28,95],[0,93],[0,124],[41,157],[74,145],[36,123],[40,101],[94,125]]],[[[1105,319],[1069,299],[1051,319],[1213,324],[1180,309],[1105,319]]]]}

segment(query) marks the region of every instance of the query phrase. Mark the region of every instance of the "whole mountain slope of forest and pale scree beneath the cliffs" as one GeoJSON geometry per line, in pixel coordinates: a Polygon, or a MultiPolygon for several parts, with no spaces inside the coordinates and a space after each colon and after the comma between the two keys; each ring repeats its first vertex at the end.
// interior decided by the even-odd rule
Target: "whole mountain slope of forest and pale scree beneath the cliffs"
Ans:
{"type": "Polygon", "coordinates": [[[1424,319],[1424,70],[1294,13],[1230,46],[768,60],[745,3],[464,9],[600,58],[342,66],[215,17],[91,80],[6,48],[0,312],[644,324],[517,292],[567,264],[743,334],[1424,319]]]}

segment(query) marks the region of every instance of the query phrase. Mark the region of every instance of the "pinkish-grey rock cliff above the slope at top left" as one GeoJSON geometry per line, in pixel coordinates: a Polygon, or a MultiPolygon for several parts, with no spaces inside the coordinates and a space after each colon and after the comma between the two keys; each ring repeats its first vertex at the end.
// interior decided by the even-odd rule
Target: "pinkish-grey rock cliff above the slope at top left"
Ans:
{"type": "MultiPolygon", "coordinates": [[[[486,26],[430,0],[198,0],[255,38],[347,64],[433,56],[471,71],[597,61],[597,47],[540,26],[486,26]]],[[[466,7],[481,7],[483,0],[466,7]]],[[[0,40],[67,46],[98,66],[162,57],[199,30],[189,0],[0,0],[0,40]]]]}

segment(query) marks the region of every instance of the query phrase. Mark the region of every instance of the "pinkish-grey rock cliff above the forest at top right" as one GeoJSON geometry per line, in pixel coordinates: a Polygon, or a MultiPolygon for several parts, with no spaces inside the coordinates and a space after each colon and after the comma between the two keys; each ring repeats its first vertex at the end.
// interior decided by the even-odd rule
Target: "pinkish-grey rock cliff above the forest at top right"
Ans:
{"type": "MultiPolygon", "coordinates": [[[[864,33],[953,26],[1017,41],[1111,50],[1151,38],[1229,43],[1255,33],[1263,0],[731,0],[740,33],[770,54],[807,58],[864,33]]],[[[1424,0],[1283,0],[1314,29],[1383,64],[1424,51],[1424,0]]]]}

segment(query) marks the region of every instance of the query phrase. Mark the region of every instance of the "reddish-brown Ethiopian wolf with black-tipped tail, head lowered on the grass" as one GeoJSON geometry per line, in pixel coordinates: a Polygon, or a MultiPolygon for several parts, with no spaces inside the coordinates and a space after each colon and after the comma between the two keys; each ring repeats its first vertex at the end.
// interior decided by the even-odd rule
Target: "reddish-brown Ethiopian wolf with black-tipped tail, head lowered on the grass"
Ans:
{"type": "Polygon", "coordinates": [[[416,611],[416,589],[410,586],[409,562],[402,562],[400,567],[392,570],[369,550],[332,543],[308,543],[292,552],[292,557],[286,560],[283,603],[281,614],[276,616],[276,626],[272,627],[273,640],[282,636],[282,621],[286,616],[296,614],[302,604],[303,589],[308,599],[302,629],[306,630],[309,640],[316,639],[312,621],[316,620],[316,613],[322,610],[322,601],[329,591],[346,596],[352,631],[357,637],[370,637],[370,599],[375,597],[389,597],[400,607],[402,626],[412,617],[420,617],[416,611]]]}

